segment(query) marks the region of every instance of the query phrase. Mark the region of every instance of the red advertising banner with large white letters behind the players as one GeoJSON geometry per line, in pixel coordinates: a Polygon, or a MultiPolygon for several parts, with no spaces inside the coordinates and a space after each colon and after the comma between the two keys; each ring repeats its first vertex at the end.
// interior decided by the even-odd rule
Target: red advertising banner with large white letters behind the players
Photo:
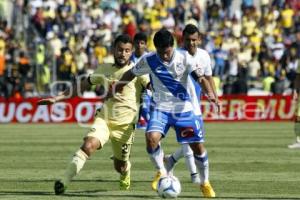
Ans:
{"type": "MultiPolygon", "coordinates": [[[[291,96],[223,96],[222,111],[202,101],[206,121],[289,121],[296,104],[291,96]]],[[[38,106],[39,98],[0,99],[0,123],[91,122],[100,99],[72,98],[51,106],[38,106]]]]}

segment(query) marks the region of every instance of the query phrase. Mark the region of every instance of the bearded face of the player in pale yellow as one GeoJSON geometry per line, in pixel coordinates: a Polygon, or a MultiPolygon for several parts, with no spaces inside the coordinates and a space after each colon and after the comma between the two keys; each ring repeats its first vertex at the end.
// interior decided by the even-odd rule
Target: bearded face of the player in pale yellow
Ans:
{"type": "Polygon", "coordinates": [[[114,50],[115,62],[118,66],[124,67],[129,63],[129,58],[132,54],[132,44],[119,42],[114,50]]]}

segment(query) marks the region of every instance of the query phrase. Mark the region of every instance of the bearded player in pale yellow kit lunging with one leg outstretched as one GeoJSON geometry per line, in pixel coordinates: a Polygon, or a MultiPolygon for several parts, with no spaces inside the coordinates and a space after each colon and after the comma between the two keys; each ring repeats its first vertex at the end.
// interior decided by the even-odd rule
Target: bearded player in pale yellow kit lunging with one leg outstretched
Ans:
{"type": "MultiPolygon", "coordinates": [[[[133,67],[129,58],[132,54],[132,40],[128,35],[120,35],[114,41],[114,64],[103,64],[94,74],[81,81],[81,88],[74,87],[63,94],[42,99],[40,105],[48,105],[76,96],[90,85],[99,84],[106,91],[109,85],[119,80],[124,72],[133,67]]],[[[130,188],[130,150],[133,143],[137,110],[143,87],[149,83],[148,76],[135,78],[121,93],[107,99],[95,115],[94,123],[84,137],[82,146],[75,152],[65,175],[54,184],[55,194],[63,194],[72,178],[79,173],[86,160],[97,150],[103,148],[110,139],[113,150],[114,167],[120,173],[120,189],[130,188]]],[[[74,84],[76,85],[76,84],[74,84]]]]}

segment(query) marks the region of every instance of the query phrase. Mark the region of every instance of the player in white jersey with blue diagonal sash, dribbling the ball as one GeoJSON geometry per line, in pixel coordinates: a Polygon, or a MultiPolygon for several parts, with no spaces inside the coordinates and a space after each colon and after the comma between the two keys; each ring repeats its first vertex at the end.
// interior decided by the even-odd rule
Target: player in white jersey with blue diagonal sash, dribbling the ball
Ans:
{"type": "MultiPolygon", "coordinates": [[[[170,127],[175,129],[179,143],[190,145],[199,172],[207,174],[208,177],[208,156],[203,144],[203,120],[195,113],[200,105],[193,81],[201,84],[211,101],[215,102],[216,99],[202,69],[189,64],[186,54],[173,48],[174,38],[167,29],[155,33],[153,40],[156,52],[144,56],[131,70],[125,72],[120,81],[113,85],[111,94],[121,92],[136,76],[150,75],[154,109],[150,111],[145,135],[147,152],[158,170],[152,182],[152,188],[156,190],[159,178],[167,175],[160,140],[167,135],[170,127]]],[[[208,180],[200,184],[200,189],[204,197],[215,197],[208,180]]]]}

